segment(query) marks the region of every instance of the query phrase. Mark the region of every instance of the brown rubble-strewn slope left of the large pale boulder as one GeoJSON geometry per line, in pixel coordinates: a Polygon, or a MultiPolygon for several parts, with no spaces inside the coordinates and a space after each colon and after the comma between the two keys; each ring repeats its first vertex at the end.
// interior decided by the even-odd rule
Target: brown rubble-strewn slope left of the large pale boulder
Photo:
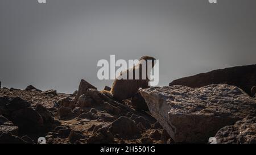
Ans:
{"type": "Polygon", "coordinates": [[[116,102],[83,79],[75,93],[2,88],[0,143],[38,143],[38,137],[47,143],[167,142],[161,125],[130,100],[116,102]]]}

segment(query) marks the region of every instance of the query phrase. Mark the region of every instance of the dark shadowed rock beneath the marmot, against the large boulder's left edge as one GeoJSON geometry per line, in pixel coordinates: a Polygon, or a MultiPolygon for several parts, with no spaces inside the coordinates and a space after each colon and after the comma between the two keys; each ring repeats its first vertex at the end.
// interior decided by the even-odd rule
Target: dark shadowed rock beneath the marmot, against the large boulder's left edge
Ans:
{"type": "Polygon", "coordinates": [[[131,106],[135,110],[144,110],[148,111],[147,103],[145,102],[144,98],[141,96],[140,93],[135,94],[131,98],[131,106]]]}

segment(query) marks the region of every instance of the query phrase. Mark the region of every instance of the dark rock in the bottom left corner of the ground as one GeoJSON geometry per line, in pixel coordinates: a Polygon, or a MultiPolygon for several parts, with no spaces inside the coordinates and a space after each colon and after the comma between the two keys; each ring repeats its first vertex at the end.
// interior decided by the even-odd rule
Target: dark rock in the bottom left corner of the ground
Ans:
{"type": "Polygon", "coordinates": [[[0,144],[26,144],[26,141],[12,135],[10,132],[4,132],[0,135],[0,144]]]}

